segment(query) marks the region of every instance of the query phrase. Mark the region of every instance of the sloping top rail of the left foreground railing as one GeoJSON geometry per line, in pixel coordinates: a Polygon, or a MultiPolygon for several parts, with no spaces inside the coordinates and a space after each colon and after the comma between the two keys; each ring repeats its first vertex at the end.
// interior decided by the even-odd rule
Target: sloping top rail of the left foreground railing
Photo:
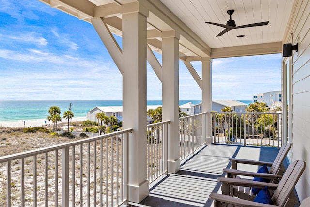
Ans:
{"type": "Polygon", "coordinates": [[[109,138],[112,136],[116,136],[119,134],[124,134],[124,133],[129,133],[132,132],[132,129],[124,129],[122,131],[116,131],[116,132],[112,132],[109,134],[104,134],[104,135],[99,135],[99,136],[95,136],[95,137],[91,137],[91,138],[86,138],[83,140],[77,140],[77,141],[73,141],[73,142],[69,142],[69,143],[61,143],[61,144],[57,144],[57,145],[53,145],[53,146],[48,146],[48,147],[44,147],[44,148],[39,148],[39,149],[34,149],[31,151],[26,151],[26,152],[20,152],[20,153],[16,153],[16,154],[12,154],[12,155],[6,155],[6,156],[2,156],[0,157],[0,163],[3,162],[7,162],[7,161],[12,161],[12,160],[16,160],[16,159],[22,159],[22,158],[27,158],[33,155],[39,155],[42,153],[47,153],[47,152],[51,152],[51,151],[55,151],[55,150],[60,150],[66,147],[71,147],[71,146],[75,146],[78,144],[83,144],[83,143],[90,143],[90,142],[94,142],[100,139],[105,139],[105,138],[109,138]]]}

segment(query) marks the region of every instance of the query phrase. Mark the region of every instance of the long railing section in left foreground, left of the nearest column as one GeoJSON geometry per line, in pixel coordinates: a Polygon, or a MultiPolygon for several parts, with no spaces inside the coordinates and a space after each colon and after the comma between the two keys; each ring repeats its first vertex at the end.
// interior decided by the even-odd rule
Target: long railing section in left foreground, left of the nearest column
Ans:
{"type": "Polygon", "coordinates": [[[121,205],[128,198],[131,131],[1,157],[0,194],[6,202],[0,205],[121,205]]]}

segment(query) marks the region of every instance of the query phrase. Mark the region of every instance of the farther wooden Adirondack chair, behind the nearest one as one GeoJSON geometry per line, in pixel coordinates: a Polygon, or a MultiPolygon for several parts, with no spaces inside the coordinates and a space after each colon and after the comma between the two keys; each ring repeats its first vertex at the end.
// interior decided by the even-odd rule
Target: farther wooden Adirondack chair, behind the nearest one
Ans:
{"type": "MultiPolygon", "coordinates": [[[[289,152],[291,148],[291,144],[287,143],[281,147],[279,150],[279,153],[274,160],[274,162],[262,162],[262,161],[255,161],[255,160],[247,160],[247,159],[234,159],[230,158],[232,161],[232,168],[234,169],[223,169],[224,173],[227,173],[227,177],[229,178],[238,178],[241,179],[238,175],[243,176],[250,176],[250,177],[259,177],[259,178],[265,178],[269,179],[270,183],[279,183],[279,180],[282,178],[284,169],[281,169],[281,165],[289,152]],[[256,173],[256,172],[248,172],[248,171],[241,171],[237,170],[237,163],[243,163],[243,164],[251,164],[251,165],[266,165],[270,166],[270,173],[256,173]]],[[[223,185],[222,190],[226,191],[226,187],[223,185]]],[[[233,192],[234,196],[237,197],[243,197],[247,200],[252,200],[255,198],[255,195],[252,193],[253,186],[244,187],[244,186],[233,186],[233,191],[231,190],[231,193],[233,192]]],[[[256,188],[256,187],[255,187],[256,188]]],[[[257,189],[258,191],[259,189],[257,189]]],[[[295,200],[297,202],[297,199],[294,195],[294,193],[291,194],[291,200],[295,200]]]]}

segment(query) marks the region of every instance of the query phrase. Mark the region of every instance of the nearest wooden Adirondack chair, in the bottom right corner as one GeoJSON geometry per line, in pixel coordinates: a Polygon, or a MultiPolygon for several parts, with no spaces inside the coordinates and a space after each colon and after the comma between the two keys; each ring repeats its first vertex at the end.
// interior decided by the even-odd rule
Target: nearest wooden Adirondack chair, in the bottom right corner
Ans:
{"type": "Polygon", "coordinates": [[[225,191],[223,194],[211,193],[209,198],[215,200],[215,207],[227,207],[227,206],[242,206],[242,207],[293,207],[294,203],[290,200],[290,194],[294,190],[294,187],[306,168],[306,163],[303,160],[296,160],[292,162],[284,173],[279,184],[264,183],[251,181],[246,179],[235,179],[219,177],[218,181],[225,185],[225,191]],[[274,190],[271,194],[271,200],[273,205],[262,204],[254,202],[254,199],[245,200],[241,197],[232,197],[233,186],[255,186],[257,188],[264,188],[274,190]]]}

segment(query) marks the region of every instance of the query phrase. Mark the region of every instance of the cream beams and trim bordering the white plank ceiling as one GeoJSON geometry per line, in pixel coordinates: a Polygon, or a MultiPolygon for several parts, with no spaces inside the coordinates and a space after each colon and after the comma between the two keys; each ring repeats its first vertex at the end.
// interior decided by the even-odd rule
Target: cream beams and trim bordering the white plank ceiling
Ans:
{"type": "MultiPolygon", "coordinates": [[[[122,13],[122,7],[125,4],[109,3],[101,6],[96,6],[89,0],[40,0],[52,7],[55,7],[69,15],[76,16],[79,19],[91,23],[91,19],[94,17],[104,17],[106,24],[109,25],[111,32],[116,35],[122,35],[121,26],[122,19],[119,15],[122,13]]],[[[132,3],[134,0],[124,1],[126,3],[132,3]]],[[[186,24],[181,21],[169,8],[166,7],[160,0],[136,0],[150,12],[150,18],[148,23],[153,26],[148,32],[148,44],[160,50],[158,47],[161,44],[160,35],[161,32],[167,30],[174,30],[180,34],[179,43],[182,48],[185,48],[188,52],[180,51],[180,58],[183,61],[200,60],[204,57],[211,58],[223,58],[223,57],[236,57],[236,56],[248,56],[248,55],[260,55],[260,54],[274,54],[282,52],[282,42],[276,43],[263,43],[247,46],[235,46],[224,48],[210,48],[202,39],[186,24]],[[151,15],[152,14],[152,15],[151,15]],[[158,27],[157,27],[158,26],[158,27]],[[161,27],[163,26],[163,27],[161,27]],[[157,30],[157,31],[156,31],[157,30]],[[158,41],[154,42],[154,40],[158,41]],[[154,43],[157,43],[154,45],[154,43]],[[196,57],[197,55],[197,57],[196,57]],[[187,56],[189,56],[187,58],[187,56]]],[[[154,49],[151,47],[152,49],[154,49]]],[[[160,51],[157,50],[160,53],[160,51]]]]}

